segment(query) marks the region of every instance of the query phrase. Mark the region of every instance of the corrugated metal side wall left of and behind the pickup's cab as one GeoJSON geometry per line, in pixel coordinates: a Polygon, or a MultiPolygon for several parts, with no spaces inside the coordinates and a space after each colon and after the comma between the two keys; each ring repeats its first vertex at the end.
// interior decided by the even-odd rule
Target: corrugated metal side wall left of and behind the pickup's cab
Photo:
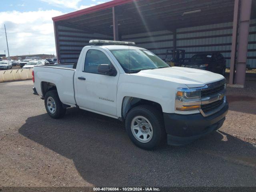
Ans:
{"type": "Polygon", "coordinates": [[[82,30],[58,25],[58,51],[60,63],[74,63],[78,61],[82,48],[89,44],[91,39],[108,39],[111,36],[102,34],[88,34],[82,30]]]}

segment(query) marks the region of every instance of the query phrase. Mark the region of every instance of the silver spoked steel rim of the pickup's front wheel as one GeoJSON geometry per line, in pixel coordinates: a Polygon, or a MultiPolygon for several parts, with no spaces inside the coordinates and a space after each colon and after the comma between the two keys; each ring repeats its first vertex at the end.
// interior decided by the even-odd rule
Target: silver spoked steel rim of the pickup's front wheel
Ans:
{"type": "Polygon", "coordinates": [[[136,116],[132,119],[131,130],[133,136],[142,143],[147,143],[152,139],[152,125],[149,120],[143,116],[136,116]]]}

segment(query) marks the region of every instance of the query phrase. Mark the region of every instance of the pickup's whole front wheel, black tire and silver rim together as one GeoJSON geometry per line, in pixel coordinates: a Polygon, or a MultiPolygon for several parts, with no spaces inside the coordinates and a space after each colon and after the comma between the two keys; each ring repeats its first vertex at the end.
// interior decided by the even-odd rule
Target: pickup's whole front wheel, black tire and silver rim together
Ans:
{"type": "Polygon", "coordinates": [[[126,116],[125,126],[130,140],[140,148],[151,150],[165,140],[162,114],[152,106],[132,108],[126,116]]]}

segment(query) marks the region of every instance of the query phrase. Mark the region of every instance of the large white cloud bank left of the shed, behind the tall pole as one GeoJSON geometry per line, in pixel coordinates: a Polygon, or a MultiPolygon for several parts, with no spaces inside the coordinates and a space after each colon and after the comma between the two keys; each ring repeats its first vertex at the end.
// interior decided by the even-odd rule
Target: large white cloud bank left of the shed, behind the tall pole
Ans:
{"type": "Polygon", "coordinates": [[[56,54],[52,17],[56,10],[0,12],[0,54],[7,50],[3,26],[6,24],[10,56],[21,54],[56,54]]]}

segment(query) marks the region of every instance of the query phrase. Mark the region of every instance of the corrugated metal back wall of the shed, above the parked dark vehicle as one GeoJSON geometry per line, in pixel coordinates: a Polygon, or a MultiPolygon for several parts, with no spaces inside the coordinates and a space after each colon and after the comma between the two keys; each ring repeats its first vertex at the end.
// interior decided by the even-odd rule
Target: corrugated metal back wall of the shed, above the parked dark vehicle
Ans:
{"type": "MultiPolygon", "coordinates": [[[[200,52],[218,51],[230,66],[232,42],[232,22],[180,28],[176,30],[176,48],[186,50],[186,59],[200,52]]],[[[165,58],[166,49],[173,48],[173,35],[170,31],[152,32],[122,36],[122,40],[136,42],[137,46],[147,48],[160,58],[165,58]]],[[[250,22],[248,39],[248,60],[252,68],[256,68],[256,20],[250,22]]]]}

